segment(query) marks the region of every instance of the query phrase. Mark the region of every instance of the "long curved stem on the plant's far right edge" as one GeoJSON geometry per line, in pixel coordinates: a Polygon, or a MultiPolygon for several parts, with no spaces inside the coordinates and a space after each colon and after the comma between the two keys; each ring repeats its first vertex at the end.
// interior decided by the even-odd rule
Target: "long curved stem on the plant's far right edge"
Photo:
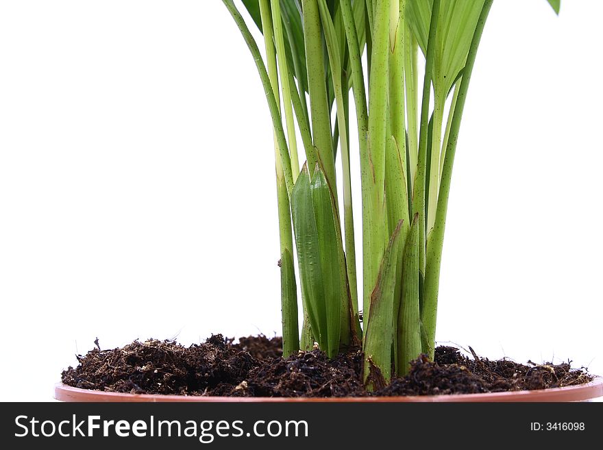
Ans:
{"type": "Polygon", "coordinates": [[[428,242],[428,264],[425,278],[425,295],[423,299],[423,308],[421,310],[421,321],[426,329],[428,340],[431,344],[430,358],[433,358],[434,341],[436,332],[436,318],[438,305],[438,290],[439,276],[442,258],[442,247],[444,242],[444,231],[446,225],[446,213],[448,208],[448,198],[450,196],[450,182],[452,179],[452,166],[454,164],[454,155],[456,153],[456,143],[458,142],[458,132],[460,129],[460,121],[465,109],[465,101],[467,100],[467,90],[469,82],[471,82],[471,73],[473,65],[476,61],[480,39],[484,32],[488,13],[492,6],[492,0],[486,0],[476,26],[476,31],[471,40],[467,62],[463,78],[460,79],[458,88],[458,99],[452,116],[452,124],[450,125],[450,136],[447,142],[445,153],[444,166],[442,171],[442,179],[440,183],[440,192],[438,197],[438,207],[436,213],[436,222],[434,229],[428,242]]]}

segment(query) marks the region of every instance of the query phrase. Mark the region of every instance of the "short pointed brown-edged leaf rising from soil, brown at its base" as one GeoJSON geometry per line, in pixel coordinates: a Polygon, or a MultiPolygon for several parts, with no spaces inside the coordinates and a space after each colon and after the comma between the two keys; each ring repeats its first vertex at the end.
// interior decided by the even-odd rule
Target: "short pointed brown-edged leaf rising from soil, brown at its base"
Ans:
{"type": "Polygon", "coordinates": [[[365,332],[364,380],[369,388],[379,388],[391,379],[393,308],[397,256],[401,251],[400,221],[383,255],[377,284],[371,293],[371,314],[365,332]],[[374,371],[377,368],[380,375],[374,371]]]}

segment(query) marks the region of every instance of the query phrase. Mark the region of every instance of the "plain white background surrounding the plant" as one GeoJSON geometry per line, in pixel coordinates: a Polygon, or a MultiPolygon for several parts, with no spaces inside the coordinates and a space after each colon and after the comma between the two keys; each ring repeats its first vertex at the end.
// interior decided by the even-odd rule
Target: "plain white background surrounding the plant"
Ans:
{"type": "MultiPolygon", "coordinates": [[[[601,16],[596,0],[559,17],[494,3],[458,143],[441,342],[603,374],[601,16]]],[[[0,1],[1,399],[51,399],[96,337],[280,333],[272,146],[221,1],[0,1]]]]}

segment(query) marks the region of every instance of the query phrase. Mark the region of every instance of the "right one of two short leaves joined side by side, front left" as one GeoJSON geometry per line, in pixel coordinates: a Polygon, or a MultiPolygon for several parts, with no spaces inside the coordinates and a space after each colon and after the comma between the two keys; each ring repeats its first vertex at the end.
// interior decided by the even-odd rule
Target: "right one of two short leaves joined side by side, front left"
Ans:
{"type": "MultiPolygon", "coordinates": [[[[343,307],[342,299],[345,296],[345,286],[342,286],[342,268],[339,265],[341,238],[338,238],[336,232],[331,192],[325,175],[318,164],[312,175],[310,192],[317,227],[324,288],[323,302],[328,330],[328,347],[323,350],[327,352],[329,358],[333,358],[339,352],[341,308],[343,307]]],[[[345,271],[345,267],[343,271],[345,271]]]]}

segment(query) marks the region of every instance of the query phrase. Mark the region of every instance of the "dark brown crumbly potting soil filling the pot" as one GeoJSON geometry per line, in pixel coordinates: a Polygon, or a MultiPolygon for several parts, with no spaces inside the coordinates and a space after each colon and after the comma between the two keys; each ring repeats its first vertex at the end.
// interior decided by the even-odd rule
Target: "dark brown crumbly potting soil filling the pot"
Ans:
{"type": "Polygon", "coordinates": [[[138,340],[120,349],[88,351],[79,365],[62,373],[62,382],[84,389],[136,394],[235,397],[361,397],[436,395],[533,390],[591,381],[584,369],[564,364],[490,361],[438,347],[434,361],[421,355],[410,373],[377,392],[362,384],[362,354],[329,360],[319,350],[281,358],[282,339],[249,336],[238,342],[214,335],[183,347],[170,340],[138,340]]]}

